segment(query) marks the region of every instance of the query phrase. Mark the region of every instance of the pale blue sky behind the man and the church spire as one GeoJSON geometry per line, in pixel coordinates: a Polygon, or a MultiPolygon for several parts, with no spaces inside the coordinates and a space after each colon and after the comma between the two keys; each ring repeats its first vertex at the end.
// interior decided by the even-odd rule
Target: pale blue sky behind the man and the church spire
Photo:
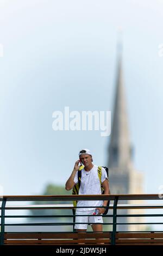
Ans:
{"type": "Polygon", "coordinates": [[[109,137],[53,131],[52,113],[112,111],[118,29],[134,166],[163,185],[163,1],[0,0],[0,173],[4,194],[65,184],[81,148],[105,165],[109,137]]]}

